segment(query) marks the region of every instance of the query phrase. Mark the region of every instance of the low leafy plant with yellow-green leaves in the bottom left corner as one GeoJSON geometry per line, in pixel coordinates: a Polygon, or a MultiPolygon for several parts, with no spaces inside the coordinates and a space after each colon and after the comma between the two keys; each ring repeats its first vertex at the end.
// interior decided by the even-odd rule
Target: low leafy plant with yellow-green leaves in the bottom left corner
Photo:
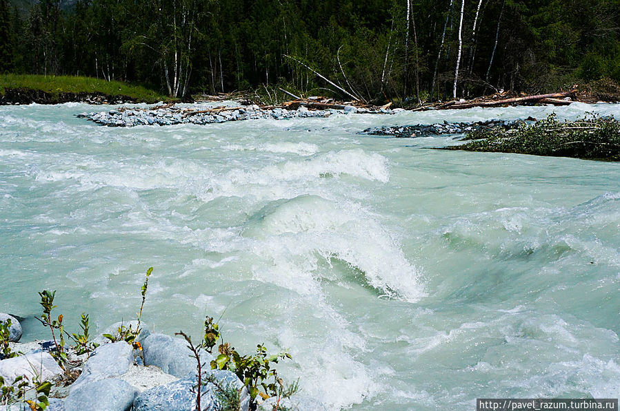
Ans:
{"type": "Polygon", "coordinates": [[[51,388],[50,381],[39,381],[36,377],[30,381],[25,375],[20,375],[11,384],[6,384],[0,376],[0,405],[24,401],[32,411],[45,410],[50,405],[48,396],[51,388]],[[30,392],[34,392],[34,400],[30,392]]]}

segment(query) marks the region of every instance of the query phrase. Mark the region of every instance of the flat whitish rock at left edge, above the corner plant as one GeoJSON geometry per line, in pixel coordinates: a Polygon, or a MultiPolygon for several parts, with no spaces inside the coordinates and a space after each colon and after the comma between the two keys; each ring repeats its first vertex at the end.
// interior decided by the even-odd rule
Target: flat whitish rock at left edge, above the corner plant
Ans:
{"type": "Polygon", "coordinates": [[[0,376],[8,383],[19,375],[26,375],[30,380],[38,377],[43,381],[62,373],[63,370],[48,352],[34,352],[0,361],[0,376]]]}

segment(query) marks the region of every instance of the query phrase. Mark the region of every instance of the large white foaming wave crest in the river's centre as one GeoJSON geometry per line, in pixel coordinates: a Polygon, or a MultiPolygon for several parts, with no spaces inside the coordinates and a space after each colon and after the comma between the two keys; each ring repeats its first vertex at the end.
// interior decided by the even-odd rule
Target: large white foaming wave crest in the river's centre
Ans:
{"type": "Polygon", "coordinates": [[[419,269],[403,255],[397,240],[357,204],[336,204],[318,196],[280,200],[254,215],[244,235],[257,238],[253,251],[274,263],[267,273],[263,266],[262,277],[302,294],[315,285],[318,254],[357,268],[368,285],[389,297],[414,302],[424,295],[419,269]]]}

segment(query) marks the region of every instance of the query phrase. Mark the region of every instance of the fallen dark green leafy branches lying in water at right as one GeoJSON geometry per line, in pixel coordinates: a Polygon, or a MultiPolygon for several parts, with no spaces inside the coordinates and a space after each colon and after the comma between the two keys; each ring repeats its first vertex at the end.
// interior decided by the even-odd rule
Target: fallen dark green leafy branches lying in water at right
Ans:
{"type": "Polygon", "coordinates": [[[612,116],[560,121],[554,114],[518,129],[474,131],[450,149],[620,161],[620,122],[612,116]]]}

